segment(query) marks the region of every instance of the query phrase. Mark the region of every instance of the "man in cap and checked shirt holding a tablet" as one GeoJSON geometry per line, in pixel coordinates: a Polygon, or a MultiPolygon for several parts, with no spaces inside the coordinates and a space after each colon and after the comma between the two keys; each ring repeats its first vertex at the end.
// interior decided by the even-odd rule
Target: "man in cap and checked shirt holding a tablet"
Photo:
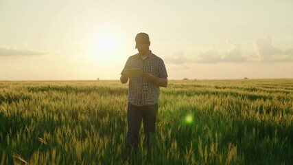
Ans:
{"type": "Polygon", "coordinates": [[[129,80],[126,137],[128,153],[132,148],[136,151],[139,144],[141,120],[149,145],[150,134],[155,131],[160,87],[167,87],[168,81],[164,61],[150,50],[148,34],[137,34],[135,42],[139,53],[128,58],[120,77],[122,84],[129,80]]]}

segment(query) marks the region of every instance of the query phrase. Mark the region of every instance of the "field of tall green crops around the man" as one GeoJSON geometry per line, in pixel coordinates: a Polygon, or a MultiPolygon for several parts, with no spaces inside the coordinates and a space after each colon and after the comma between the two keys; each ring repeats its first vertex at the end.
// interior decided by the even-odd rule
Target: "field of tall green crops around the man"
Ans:
{"type": "Polygon", "coordinates": [[[127,95],[119,81],[0,82],[0,165],[293,163],[293,79],[169,81],[151,149],[141,133],[130,159],[127,95]]]}

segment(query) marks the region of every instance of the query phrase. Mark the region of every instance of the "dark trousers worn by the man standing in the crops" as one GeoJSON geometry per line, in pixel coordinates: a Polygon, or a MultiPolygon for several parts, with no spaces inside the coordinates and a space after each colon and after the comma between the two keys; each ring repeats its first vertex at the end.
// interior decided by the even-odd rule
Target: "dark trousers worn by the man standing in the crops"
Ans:
{"type": "Polygon", "coordinates": [[[147,106],[134,106],[128,102],[127,124],[128,132],[126,137],[126,147],[137,146],[139,144],[139,130],[141,129],[141,120],[143,120],[143,131],[145,140],[149,144],[149,137],[155,131],[156,114],[158,113],[158,104],[147,106]]]}

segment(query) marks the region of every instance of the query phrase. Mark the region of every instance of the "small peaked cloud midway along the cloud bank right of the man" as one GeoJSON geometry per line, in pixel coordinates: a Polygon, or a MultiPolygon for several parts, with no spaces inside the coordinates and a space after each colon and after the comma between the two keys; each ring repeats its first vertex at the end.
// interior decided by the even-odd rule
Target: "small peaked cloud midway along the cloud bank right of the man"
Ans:
{"type": "Polygon", "coordinates": [[[227,41],[228,49],[220,52],[218,50],[209,50],[200,52],[194,62],[196,63],[235,63],[247,61],[239,45],[232,41],[227,41]]]}

